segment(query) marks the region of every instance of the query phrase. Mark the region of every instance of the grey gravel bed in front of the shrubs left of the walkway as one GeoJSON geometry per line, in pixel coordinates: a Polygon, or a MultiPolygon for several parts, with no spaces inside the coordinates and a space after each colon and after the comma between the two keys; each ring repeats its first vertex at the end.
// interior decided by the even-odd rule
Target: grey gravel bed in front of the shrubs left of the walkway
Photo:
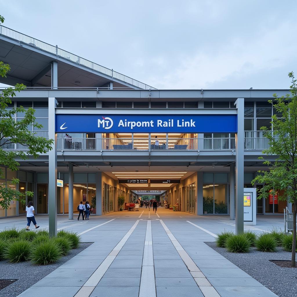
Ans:
{"type": "Polygon", "coordinates": [[[0,290],[0,296],[18,296],[91,244],[92,242],[80,243],[78,249],[72,249],[67,256],[62,257],[57,263],[50,265],[33,265],[30,261],[20,263],[0,261],[1,279],[18,279],[13,284],[0,290]]]}

